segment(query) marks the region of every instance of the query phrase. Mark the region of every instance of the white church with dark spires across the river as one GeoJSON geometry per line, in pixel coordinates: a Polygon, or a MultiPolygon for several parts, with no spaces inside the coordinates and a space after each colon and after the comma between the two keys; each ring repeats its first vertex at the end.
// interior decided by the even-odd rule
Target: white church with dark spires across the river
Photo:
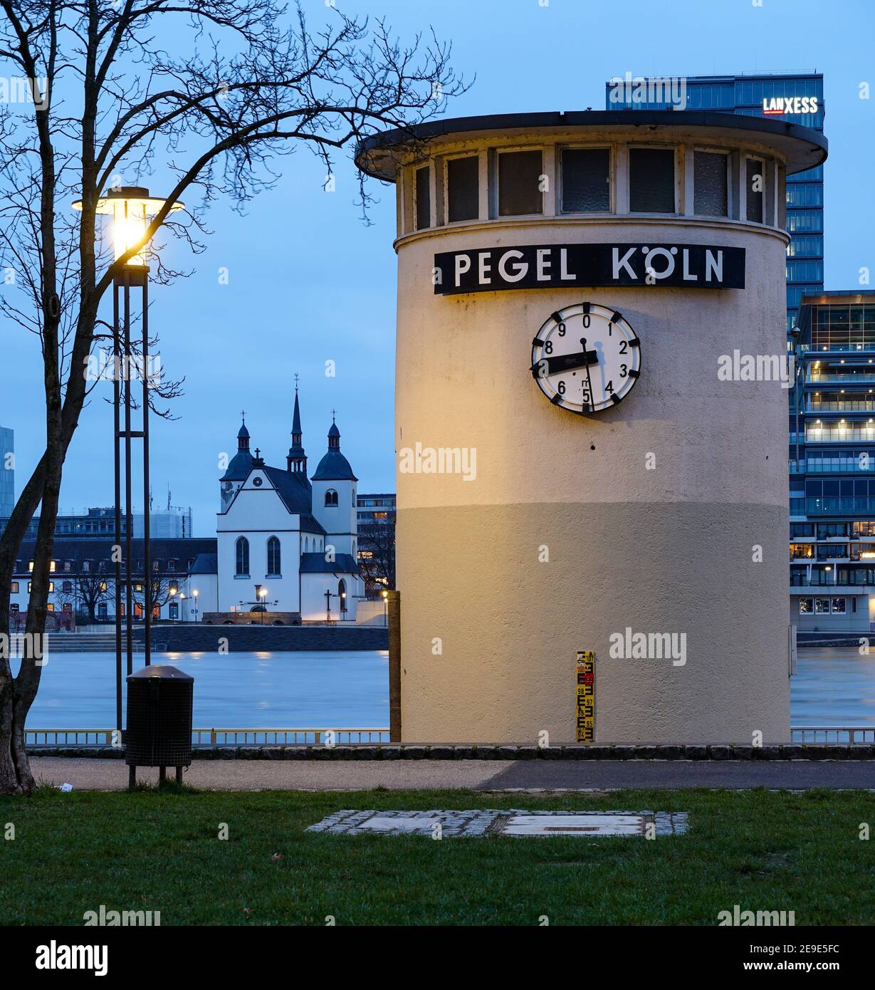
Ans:
{"type": "MultiPolygon", "coordinates": [[[[225,621],[255,612],[264,623],[355,622],[364,597],[356,562],[358,479],[340,452],[336,422],[311,477],[302,440],[297,387],[285,467],[265,463],[258,447],[250,451],[243,421],[237,453],[220,479],[215,598],[209,591],[203,598],[216,602],[225,621]]],[[[209,575],[199,579],[209,583],[209,575]]],[[[204,612],[208,622],[223,621],[204,612]]]]}

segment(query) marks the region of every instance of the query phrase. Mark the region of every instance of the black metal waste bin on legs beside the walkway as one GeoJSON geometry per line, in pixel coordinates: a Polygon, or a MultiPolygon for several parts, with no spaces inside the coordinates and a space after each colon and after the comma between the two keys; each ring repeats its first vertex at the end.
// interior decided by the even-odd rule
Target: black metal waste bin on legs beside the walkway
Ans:
{"type": "Polygon", "coordinates": [[[128,723],[125,730],[125,762],[130,783],[138,766],[182,767],[191,763],[191,711],[194,678],[176,667],[154,664],[128,676],[128,723]]]}

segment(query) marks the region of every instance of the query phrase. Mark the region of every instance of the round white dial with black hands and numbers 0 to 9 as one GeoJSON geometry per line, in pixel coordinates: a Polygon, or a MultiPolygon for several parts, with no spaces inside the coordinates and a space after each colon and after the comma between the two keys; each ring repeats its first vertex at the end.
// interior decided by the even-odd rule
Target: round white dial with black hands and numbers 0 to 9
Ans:
{"type": "Polygon", "coordinates": [[[550,314],[532,342],[532,376],[553,403],[572,413],[610,409],[641,373],[641,346],[616,310],[577,303],[550,314]]]}

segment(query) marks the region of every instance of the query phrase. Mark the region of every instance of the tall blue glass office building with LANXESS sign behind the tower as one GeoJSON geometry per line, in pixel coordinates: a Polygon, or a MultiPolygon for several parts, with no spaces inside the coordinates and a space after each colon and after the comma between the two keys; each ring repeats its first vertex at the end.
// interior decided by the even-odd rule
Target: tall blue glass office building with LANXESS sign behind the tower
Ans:
{"type": "MultiPolygon", "coordinates": [[[[605,84],[608,110],[719,110],[771,117],[824,130],[824,76],[820,72],[756,75],[629,76],[605,84]],[[638,77],[640,78],[640,77],[638,77]],[[683,100],[683,106],[679,100],[683,100]]],[[[787,331],[800,299],[824,289],[824,166],[787,178],[787,331]]]]}

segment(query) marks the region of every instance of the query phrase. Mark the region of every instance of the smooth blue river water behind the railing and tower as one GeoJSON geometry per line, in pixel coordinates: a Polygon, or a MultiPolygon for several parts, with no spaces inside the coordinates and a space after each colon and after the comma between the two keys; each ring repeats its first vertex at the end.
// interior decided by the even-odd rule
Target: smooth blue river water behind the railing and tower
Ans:
{"type": "MultiPolygon", "coordinates": [[[[388,653],[166,653],[154,657],[195,679],[194,726],[380,728],[389,724],[388,653]]],[[[134,654],[134,669],[143,654],[134,654]]],[[[16,663],[13,661],[13,670],[16,663]]],[[[800,649],[791,684],[794,726],[875,725],[875,654],[800,649]]],[[[52,653],[30,729],[115,724],[115,654],[52,653]]]]}

